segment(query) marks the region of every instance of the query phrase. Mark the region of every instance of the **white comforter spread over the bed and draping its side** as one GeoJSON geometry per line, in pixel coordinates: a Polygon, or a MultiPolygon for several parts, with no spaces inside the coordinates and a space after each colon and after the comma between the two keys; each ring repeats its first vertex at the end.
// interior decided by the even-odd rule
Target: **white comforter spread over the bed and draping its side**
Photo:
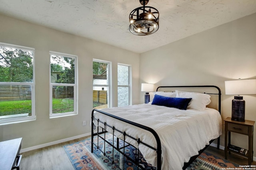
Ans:
{"type": "MultiPolygon", "coordinates": [[[[140,104],[126,107],[113,107],[101,109],[104,112],[122,117],[124,119],[151,127],[158,133],[162,146],[162,170],[181,170],[184,162],[188,162],[191,156],[198,154],[209,141],[222,134],[222,119],[215,109],[206,108],[204,111],[194,109],[179,110],[170,107],[140,104]]],[[[134,137],[156,147],[154,136],[137,127],[127,125],[111,117],[94,113],[94,116],[116,129],[126,131],[134,137]]],[[[94,121],[94,125],[97,122],[94,121]]],[[[100,125],[102,126],[102,125],[100,125]]],[[[113,132],[112,129],[107,129],[113,132]]],[[[123,138],[121,133],[114,135],[123,138]]],[[[138,144],[129,138],[126,141],[135,147],[138,144]]],[[[146,161],[156,166],[156,152],[144,145],[139,145],[146,161]]]]}

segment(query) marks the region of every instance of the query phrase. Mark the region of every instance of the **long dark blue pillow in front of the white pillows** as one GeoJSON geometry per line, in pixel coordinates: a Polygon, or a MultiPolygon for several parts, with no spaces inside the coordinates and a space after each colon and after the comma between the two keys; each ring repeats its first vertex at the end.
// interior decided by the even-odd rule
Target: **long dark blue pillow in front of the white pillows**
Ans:
{"type": "Polygon", "coordinates": [[[186,110],[192,98],[171,98],[155,94],[151,104],[186,110]]]}

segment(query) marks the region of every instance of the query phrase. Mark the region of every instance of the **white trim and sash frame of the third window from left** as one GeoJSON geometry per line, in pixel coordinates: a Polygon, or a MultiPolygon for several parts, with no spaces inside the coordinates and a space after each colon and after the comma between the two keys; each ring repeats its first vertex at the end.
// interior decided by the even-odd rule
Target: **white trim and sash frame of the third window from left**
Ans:
{"type": "Polygon", "coordinates": [[[99,59],[93,59],[95,62],[99,63],[107,63],[108,64],[108,84],[92,84],[92,86],[104,86],[108,88],[108,97],[107,97],[107,102],[108,102],[108,107],[112,107],[112,62],[111,61],[104,61],[104,60],[99,60],[99,59]]]}

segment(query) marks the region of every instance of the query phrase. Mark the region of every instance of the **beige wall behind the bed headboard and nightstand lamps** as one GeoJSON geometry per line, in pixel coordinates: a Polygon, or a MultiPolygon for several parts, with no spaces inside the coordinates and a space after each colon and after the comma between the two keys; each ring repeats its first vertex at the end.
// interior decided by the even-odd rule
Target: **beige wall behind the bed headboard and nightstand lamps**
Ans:
{"type": "MultiPolygon", "coordinates": [[[[231,117],[231,101],[234,98],[232,95],[225,95],[224,81],[238,78],[256,78],[256,14],[140,55],[141,82],[154,83],[155,87],[170,85],[220,87],[222,119],[231,117]]],[[[141,92],[140,102],[144,100],[143,94],[141,92]]],[[[246,101],[245,118],[256,121],[256,95],[243,96],[246,101]]],[[[233,145],[248,147],[246,136],[234,134],[232,137],[233,145]]],[[[254,135],[254,150],[255,137],[256,135],[254,135]]],[[[221,136],[221,145],[224,146],[224,135],[221,136]]]]}

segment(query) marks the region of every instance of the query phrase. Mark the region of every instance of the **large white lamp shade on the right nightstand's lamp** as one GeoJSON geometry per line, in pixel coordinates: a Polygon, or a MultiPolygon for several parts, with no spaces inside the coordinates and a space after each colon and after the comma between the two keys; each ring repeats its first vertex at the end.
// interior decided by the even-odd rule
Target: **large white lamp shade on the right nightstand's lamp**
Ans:
{"type": "Polygon", "coordinates": [[[225,81],[226,94],[256,94],[256,79],[225,81]]]}

